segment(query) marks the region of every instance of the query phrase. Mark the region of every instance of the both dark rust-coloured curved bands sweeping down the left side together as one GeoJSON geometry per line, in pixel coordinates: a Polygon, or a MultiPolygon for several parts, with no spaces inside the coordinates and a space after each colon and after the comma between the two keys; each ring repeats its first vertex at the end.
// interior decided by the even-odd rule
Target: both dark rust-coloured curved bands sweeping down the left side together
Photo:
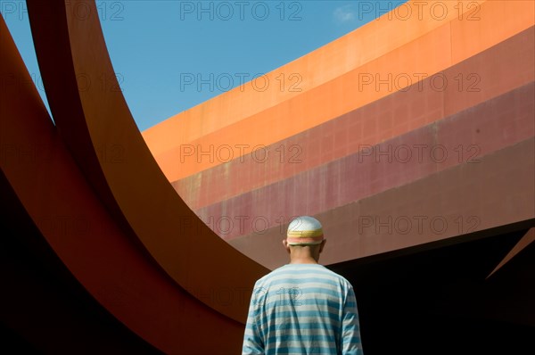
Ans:
{"type": "MultiPolygon", "coordinates": [[[[169,353],[239,351],[248,293],[267,270],[180,200],[114,90],[117,82],[79,88],[80,78],[114,74],[98,17],[80,21],[77,3],[28,2],[55,127],[35,87],[3,93],[2,144],[46,154],[22,165],[3,161],[4,176],[74,277],[136,334],[169,353]],[[62,221],[76,232],[62,235],[62,221]],[[213,290],[227,294],[211,297],[213,290]],[[203,340],[207,332],[212,342],[203,340]]],[[[84,3],[97,13],[93,1],[84,3]]],[[[27,81],[2,26],[3,78],[27,81]]]]}

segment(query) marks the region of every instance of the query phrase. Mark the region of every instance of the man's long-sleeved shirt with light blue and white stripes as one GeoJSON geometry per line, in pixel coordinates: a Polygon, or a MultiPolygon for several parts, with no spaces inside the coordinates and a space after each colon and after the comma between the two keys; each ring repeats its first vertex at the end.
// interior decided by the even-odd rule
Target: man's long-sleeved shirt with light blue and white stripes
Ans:
{"type": "Polygon", "coordinates": [[[350,282],[318,264],[288,264],[260,278],[242,353],[361,355],[350,282]]]}

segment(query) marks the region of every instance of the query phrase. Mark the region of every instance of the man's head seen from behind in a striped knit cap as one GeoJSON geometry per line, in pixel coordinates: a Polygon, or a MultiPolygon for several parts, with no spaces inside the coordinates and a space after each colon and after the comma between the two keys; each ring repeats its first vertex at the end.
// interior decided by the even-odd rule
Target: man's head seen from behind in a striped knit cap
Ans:
{"type": "Polygon", "coordinates": [[[319,220],[301,216],[293,219],[288,226],[283,244],[290,253],[292,263],[319,260],[319,254],[325,246],[323,227],[319,220]]]}

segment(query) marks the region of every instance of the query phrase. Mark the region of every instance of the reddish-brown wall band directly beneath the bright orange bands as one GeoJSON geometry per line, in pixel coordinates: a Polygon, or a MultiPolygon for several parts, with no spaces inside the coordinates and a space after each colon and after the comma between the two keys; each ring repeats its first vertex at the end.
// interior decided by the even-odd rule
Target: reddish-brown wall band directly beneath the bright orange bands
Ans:
{"type": "MultiPolygon", "coordinates": [[[[219,147],[214,149],[211,156],[200,156],[198,152],[183,155],[181,160],[190,163],[213,159],[218,160],[219,164],[175,181],[173,186],[195,211],[355,153],[363,146],[377,144],[379,141],[371,135],[372,129],[381,136],[391,131],[407,130],[411,127],[412,119],[417,124],[433,122],[506,93],[535,78],[533,35],[533,28],[525,30],[444,70],[443,75],[449,82],[444,89],[432,87],[431,79],[426,78],[405,92],[393,93],[296,136],[261,148],[258,154],[246,154],[229,161],[228,157],[235,150],[219,147]],[[265,153],[268,154],[266,158],[265,153]]],[[[520,100],[513,104],[511,110],[523,111],[526,104],[532,105],[533,102],[529,98],[520,100]]],[[[482,119],[475,117],[470,125],[480,124],[482,119]]],[[[530,120],[530,117],[525,119],[530,120]]],[[[511,122],[506,126],[509,125],[511,122]]],[[[532,121],[523,125],[533,130],[532,121]]],[[[506,138],[496,126],[492,127],[491,134],[487,134],[488,143],[495,140],[494,136],[500,136],[497,142],[506,138]]],[[[464,137],[467,140],[459,139],[459,144],[472,143],[472,136],[464,137]]],[[[480,135],[477,137],[481,140],[480,135]]]]}

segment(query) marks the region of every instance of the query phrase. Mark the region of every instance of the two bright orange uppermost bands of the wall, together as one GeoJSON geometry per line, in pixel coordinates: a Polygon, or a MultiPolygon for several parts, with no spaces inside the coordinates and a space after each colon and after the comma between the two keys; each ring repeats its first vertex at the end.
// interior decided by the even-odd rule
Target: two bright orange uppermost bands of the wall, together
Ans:
{"type": "MultiPolygon", "coordinates": [[[[393,80],[391,80],[391,87],[388,85],[376,87],[375,82],[372,85],[366,85],[364,80],[369,80],[368,75],[372,77],[378,75],[379,78],[384,79],[388,78],[389,74],[394,78],[407,74],[416,83],[419,81],[417,78],[432,77],[441,70],[489,48],[490,45],[497,44],[507,37],[533,26],[532,3],[490,1],[483,2],[479,6],[478,16],[480,20],[478,21],[468,21],[467,17],[463,17],[461,20],[457,15],[451,16],[447,20],[438,21],[429,13],[423,20],[411,17],[409,21],[373,21],[347,35],[347,39],[342,37],[333,42],[340,43],[342,48],[351,46],[358,53],[370,51],[370,45],[362,43],[359,40],[360,37],[374,37],[376,43],[389,45],[387,49],[383,49],[384,53],[380,51],[377,55],[370,55],[366,57],[365,62],[359,61],[358,58],[352,58],[351,70],[341,70],[337,73],[338,76],[325,80],[325,82],[321,79],[317,80],[317,85],[303,90],[303,93],[299,95],[294,93],[291,97],[287,97],[285,92],[278,92],[277,98],[280,101],[276,103],[262,103],[260,101],[258,110],[249,109],[251,102],[247,101],[245,96],[240,96],[243,97],[243,102],[233,98],[235,95],[241,94],[240,88],[236,88],[220,95],[220,98],[213,99],[214,103],[209,101],[198,108],[185,111],[177,117],[169,119],[169,123],[166,121],[148,129],[144,133],[144,138],[169,181],[177,181],[220,163],[216,159],[184,159],[185,154],[188,153],[185,152],[187,149],[185,144],[193,146],[195,152],[208,152],[210,145],[214,147],[223,145],[244,146],[243,149],[235,148],[235,157],[250,154],[251,149],[259,144],[276,143],[404,88],[405,82],[403,80],[399,81],[399,84],[392,83],[393,80]],[[514,21],[503,21],[503,19],[514,19],[514,21]],[[404,37],[403,45],[399,45],[398,41],[390,42],[390,37],[396,37],[393,34],[406,32],[404,29],[411,24],[410,21],[414,21],[414,27],[418,30],[410,31],[412,36],[404,37]],[[422,23],[425,22],[430,24],[423,26],[422,23]],[[376,30],[374,35],[371,35],[369,31],[373,30],[377,23],[388,23],[389,25],[384,31],[376,30]],[[232,105],[225,105],[223,102],[226,99],[232,101],[232,105]],[[211,107],[214,107],[212,109],[215,110],[214,113],[210,112],[211,107]],[[190,118],[189,114],[193,117],[190,118]],[[213,118],[216,114],[218,117],[227,114],[234,119],[225,120],[225,123],[222,124],[213,118]],[[194,120],[201,120],[196,127],[209,127],[205,129],[206,133],[202,135],[192,131],[188,136],[184,136],[186,132],[189,132],[189,127],[193,125],[189,122],[194,122],[194,120]],[[181,128],[182,125],[185,126],[185,129],[181,128]]],[[[455,12],[450,11],[449,13],[455,12]]],[[[383,15],[383,17],[387,15],[383,15]]],[[[309,72],[309,68],[313,68],[316,70],[314,76],[322,78],[325,71],[321,62],[323,56],[317,52],[321,53],[328,48],[330,45],[295,61],[293,63],[294,71],[306,73],[309,72]],[[299,63],[301,67],[298,66],[299,63]]],[[[346,66],[342,66],[342,68],[345,69],[346,66]]],[[[274,75],[277,72],[279,70],[275,70],[274,75]]],[[[330,74],[329,70],[327,73],[330,74]]],[[[466,73],[466,75],[468,74],[466,73]]],[[[466,80],[465,83],[468,83],[466,78],[462,80],[466,80]]],[[[526,80],[530,80],[530,78],[528,77],[526,80]]],[[[316,83],[316,81],[313,82],[316,83]]],[[[492,86],[486,87],[486,89],[489,90],[490,87],[492,86]]],[[[497,88],[499,90],[501,86],[497,88]]],[[[247,90],[248,87],[245,89],[247,90]]],[[[251,95],[259,94],[254,92],[253,88],[249,88],[249,90],[251,95]]],[[[469,100],[473,100],[473,96],[463,95],[469,100]]],[[[445,112],[445,114],[448,113],[445,112]]],[[[417,125],[422,126],[427,123],[430,121],[421,121],[417,125]]],[[[360,141],[363,144],[374,144],[383,139],[398,136],[412,128],[416,128],[414,123],[411,127],[387,128],[386,132],[380,134],[365,132],[360,141]]]]}

